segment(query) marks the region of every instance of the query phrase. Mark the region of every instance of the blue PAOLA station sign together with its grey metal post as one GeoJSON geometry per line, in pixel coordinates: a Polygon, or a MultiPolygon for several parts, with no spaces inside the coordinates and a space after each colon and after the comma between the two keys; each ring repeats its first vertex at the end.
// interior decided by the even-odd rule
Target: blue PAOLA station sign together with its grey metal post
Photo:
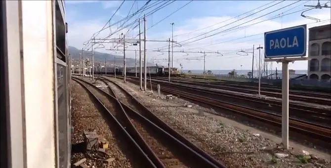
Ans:
{"type": "Polygon", "coordinates": [[[301,25],[264,33],[264,61],[282,62],[282,142],[286,149],[289,148],[289,62],[307,60],[303,57],[306,32],[307,25],[301,25]]]}

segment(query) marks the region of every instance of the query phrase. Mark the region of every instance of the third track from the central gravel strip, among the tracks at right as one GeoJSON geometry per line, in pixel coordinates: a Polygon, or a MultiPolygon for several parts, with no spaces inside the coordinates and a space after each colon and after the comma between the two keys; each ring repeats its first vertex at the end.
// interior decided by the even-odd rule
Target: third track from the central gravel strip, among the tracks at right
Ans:
{"type": "MultiPolygon", "coordinates": [[[[163,77],[154,78],[162,81],[167,81],[168,79],[163,77]]],[[[239,84],[215,84],[210,82],[199,82],[194,80],[186,80],[186,79],[180,79],[175,78],[171,80],[172,82],[181,83],[181,84],[191,84],[191,85],[198,85],[198,86],[204,86],[209,88],[217,88],[217,89],[226,89],[236,92],[243,92],[243,93],[249,93],[249,94],[257,94],[257,87],[254,86],[245,86],[245,85],[239,85],[239,84]]],[[[275,88],[264,88],[261,87],[261,94],[271,97],[282,97],[281,89],[275,89],[275,88]]],[[[316,93],[316,92],[301,92],[301,91],[292,91],[290,90],[289,98],[291,100],[295,101],[303,101],[308,103],[316,103],[321,105],[331,105],[331,94],[328,93],[316,93]]]]}

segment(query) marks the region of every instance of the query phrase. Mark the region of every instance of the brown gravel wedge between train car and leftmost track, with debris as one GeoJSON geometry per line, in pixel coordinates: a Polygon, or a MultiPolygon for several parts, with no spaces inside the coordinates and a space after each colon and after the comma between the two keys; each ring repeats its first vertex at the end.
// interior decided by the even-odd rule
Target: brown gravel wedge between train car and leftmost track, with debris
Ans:
{"type": "Polygon", "coordinates": [[[122,152],[125,144],[118,140],[110,130],[104,118],[101,116],[97,107],[90,99],[83,87],[75,81],[72,81],[72,112],[71,119],[74,126],[74,134],[72,135],[72,143],[78,144],[83,142],[83,131],[95,131],[98,135],[102,135],[109,141],[109,150],[106,153],[110,158],[115,160],[109,164],[95,162],[86,158],[83,153],[72,154],[71,162],[86,158],[86,165],[89,168],[131,168],[131,163],[122,152]]]}

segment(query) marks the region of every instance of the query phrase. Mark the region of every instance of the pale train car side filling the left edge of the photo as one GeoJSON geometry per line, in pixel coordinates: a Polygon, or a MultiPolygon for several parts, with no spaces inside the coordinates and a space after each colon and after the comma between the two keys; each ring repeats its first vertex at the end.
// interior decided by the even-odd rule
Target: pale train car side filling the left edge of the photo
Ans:
{"type": "Polygon", "coordinates": [[[0,1],[0,168],[70,168],[63,3],[0,1]]]}

